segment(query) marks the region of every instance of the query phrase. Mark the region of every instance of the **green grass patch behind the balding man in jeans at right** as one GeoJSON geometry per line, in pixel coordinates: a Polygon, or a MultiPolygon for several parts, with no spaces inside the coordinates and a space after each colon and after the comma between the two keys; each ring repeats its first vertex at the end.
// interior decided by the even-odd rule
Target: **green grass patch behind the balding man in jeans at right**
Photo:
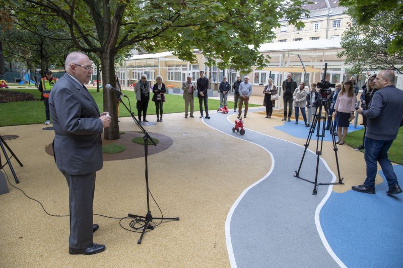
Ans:
{"type": "MultiPolygon", "coordinates": [[[[364,129],[347,133],[346,144],[353,148],[358,147],[362,144],[363,135],[364,129]]],[[[388,151],[390,161],[397,164],[403,164],[403,150],[401,150],[401,148],[403,148],[403,127],[399,128],[397,138],[393,141],[392,146],[388,151]]]]}

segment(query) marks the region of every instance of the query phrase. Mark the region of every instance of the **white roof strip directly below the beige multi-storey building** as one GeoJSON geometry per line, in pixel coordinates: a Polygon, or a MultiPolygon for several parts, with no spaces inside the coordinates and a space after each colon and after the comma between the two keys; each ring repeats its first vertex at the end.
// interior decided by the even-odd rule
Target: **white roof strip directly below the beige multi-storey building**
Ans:
{"type": "Polygon", "coordinates": [[[307,40],[283,43],[265,43],[259,47],[260,52],[309,50],[309,49],[332,49],[341,48],[340,40],[307,40]]]}

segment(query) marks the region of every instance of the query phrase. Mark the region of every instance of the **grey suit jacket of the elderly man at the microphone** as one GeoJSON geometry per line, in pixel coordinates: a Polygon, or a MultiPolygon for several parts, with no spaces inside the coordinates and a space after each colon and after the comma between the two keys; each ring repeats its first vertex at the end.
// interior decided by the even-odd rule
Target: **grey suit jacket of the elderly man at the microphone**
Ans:
{"type": "Polygon", "coordinates": [[[90,93],[65,73],[49,96],[53,150],[60,171],[82,175],[102,168],[99,110],[90,93]]]}

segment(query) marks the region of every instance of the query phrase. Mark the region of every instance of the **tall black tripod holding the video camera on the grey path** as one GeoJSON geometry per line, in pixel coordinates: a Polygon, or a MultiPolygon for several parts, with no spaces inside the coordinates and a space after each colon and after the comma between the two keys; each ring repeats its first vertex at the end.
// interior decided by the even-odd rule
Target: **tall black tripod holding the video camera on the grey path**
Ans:
{"type": "Polygon", "coordinates": [[[331,115],[330,115],[330,100],[328,100],[327,98],[320,98],[318,100],[318,106],[316,107],[316,110],[315,110],[315,115],[313,116],[313,122],[311,124],[311,128],[309,129],[308,138],[306,139],[306,143],[304,144],[305,150],[304,150],[304,154],[302,155],[301,163],[299,164],[298,171],[295,171],[295,175],[294,175],[295,177],[298,177],[301,180],[304,180],[306,182],[314,184],[312,195],[316,195],[318,185],[344,184],[343,183],[344,178],[340,177],[339,160],[338,160],[338,157],[337,157],[338,148],[337,148],[336,140],[335,140],[335,137],[334,137],[333,133],[334,133],[334,129],[333,129],[333,121],[332,121],[331,115]],[[322,107],[324,107],[324,110],[325,110],[324,116],[322,116],[322,107]],[[321,119],[323,120],[322,129],[320,129],[320,121],[321,121],[321,119]],[[323,137],[325,135],[326,119],[329,121],[330,135],[331,135],[331,140],[333,142],[333,151],[334,151],[334,155],[336,157],[337,173],[338,173],[338,176],[339,176],[339,182],[337,182],[337,183],[318,183],[319,157],[320,157],[320,155],[322,155],[322,145],[323,145],[323,137]],[[302,162],[304,161],[306,150],[309,147],[309,143],[311,141],[312,134],[315,132],[316,126],[317,126],[317,130],[316,130],[316,137],[317,137],[317,140],[316,140],[316,155],[317,155],[317,159],[316,159],[315,181],[312,182],[312,181],[310,181],[310,180],[308,180],[306,178],[300,177],[299,172],[301,171],[302,162]],[[320,138],[320,147],[319,147],[319,138],[320,138]]]}

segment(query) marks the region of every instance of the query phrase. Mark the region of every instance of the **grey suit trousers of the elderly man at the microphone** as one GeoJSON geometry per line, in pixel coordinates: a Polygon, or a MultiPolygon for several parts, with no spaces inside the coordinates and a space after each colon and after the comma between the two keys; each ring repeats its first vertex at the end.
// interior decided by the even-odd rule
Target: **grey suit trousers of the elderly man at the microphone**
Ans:
{"type": "Polygon", "coordinates": [[[62,172],[69,186],[70,237],[69,247],[87,248],[93,245],[93,215],[96,172],[70,175],[62,172]]]}

